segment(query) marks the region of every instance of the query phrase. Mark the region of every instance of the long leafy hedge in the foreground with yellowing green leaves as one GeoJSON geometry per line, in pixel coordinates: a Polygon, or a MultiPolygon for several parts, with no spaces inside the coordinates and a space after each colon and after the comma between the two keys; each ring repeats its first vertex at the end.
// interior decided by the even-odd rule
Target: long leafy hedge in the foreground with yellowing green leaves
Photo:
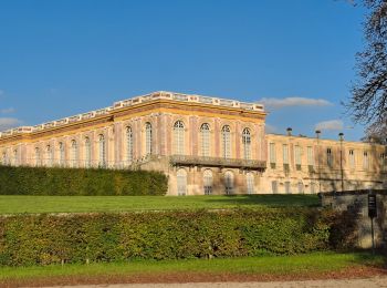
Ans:
{"type": "Polygon", "coordinates": [[[333,218],[333,212],[294,207],[3,216],[0,217],[0,265],[327,250],[332,248],[333,218]]]}

